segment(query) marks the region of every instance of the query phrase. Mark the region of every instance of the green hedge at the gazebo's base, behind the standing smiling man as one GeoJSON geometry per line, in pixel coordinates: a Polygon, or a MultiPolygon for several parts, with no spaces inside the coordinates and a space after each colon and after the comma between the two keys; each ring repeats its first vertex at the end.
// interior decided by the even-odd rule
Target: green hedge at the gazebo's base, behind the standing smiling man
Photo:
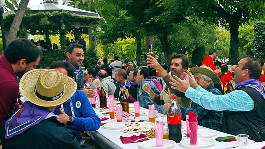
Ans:
{"type": "MultiPolygon", "coordinates": [[[[66,59],[65,50],[51,50],[47,55],[42,56],[39,62],[39,68],[50,67],[53,61],[64,61],[66,59]]],[[[98,55],[93,50],[87,50],[84,57],[84,67],[95,67],[98,61],[98,55]]]]}

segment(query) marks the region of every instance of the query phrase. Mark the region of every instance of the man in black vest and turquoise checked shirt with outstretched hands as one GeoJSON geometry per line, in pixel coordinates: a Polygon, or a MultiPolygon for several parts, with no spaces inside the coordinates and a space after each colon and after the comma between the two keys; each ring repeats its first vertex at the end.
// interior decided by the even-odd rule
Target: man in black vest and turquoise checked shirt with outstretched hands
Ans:
{"type": "Polygon", "coordinates": [[[235,90],[226,95],[213,95],[199,86],[191,73],[186,80],[170,78],[172,88],[185,92],[186,97],[208,110],[223,112],[223,132],[247,134],[249,139],[265,141],[265,95],[258,79],[261,64],[253,56],[243,57],[234,68],[235,90]]]}

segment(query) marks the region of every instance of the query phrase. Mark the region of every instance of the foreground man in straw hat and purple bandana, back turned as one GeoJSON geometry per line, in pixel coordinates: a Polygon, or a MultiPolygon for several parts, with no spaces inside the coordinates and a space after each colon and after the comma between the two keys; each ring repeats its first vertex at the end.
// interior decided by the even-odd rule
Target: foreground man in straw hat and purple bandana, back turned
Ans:
{"type": "Polygon", "coordinates": [[[76,87],[72,78],[57,70],[25,73],[20,79],[20,92],[28,101],[1,127],[3,148],[82,148],[53,113],[73,96],[76,87]]]}

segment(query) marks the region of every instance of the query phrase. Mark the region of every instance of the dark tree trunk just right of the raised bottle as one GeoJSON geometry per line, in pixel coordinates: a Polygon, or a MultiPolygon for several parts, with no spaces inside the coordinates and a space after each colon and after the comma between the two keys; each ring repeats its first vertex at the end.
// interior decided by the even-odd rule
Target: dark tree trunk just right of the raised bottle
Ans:
{"type": "Polygon", "coordinates": [[[162,50],[164,52],[164,55],[165,55],[165,63],[170,66],[170,63],[171,63],[171,54],[172,54],[172,48],[170,47],[170,44],[167,40],[167,34],[163,34],[163,36],[161,35],[157,35],[160,42],[161,42],[161,45],[162,45],[162,50]]]}

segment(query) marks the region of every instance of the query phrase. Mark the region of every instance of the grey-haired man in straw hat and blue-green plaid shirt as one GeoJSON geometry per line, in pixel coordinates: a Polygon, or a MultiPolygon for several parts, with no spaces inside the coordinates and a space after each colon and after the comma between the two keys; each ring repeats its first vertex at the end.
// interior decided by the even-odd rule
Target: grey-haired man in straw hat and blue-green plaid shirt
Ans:
{"type": "MultiPolygon", "coordinates": [[[[222,95],[222,93],[214,88],[214,84],[219,84],[221,81],[214,71],[207,66],[190,68],[194,73],[194,78],[198,85],[204,88],[208,92],[212,92],[214,95],[222,95]]],[[[198,115],[198,125],[214,129],[221,130],[223,112],[215,110],[207,110],[192,101],[191,108],[180,106],[182,120],[186,120],[186,115],[189,114],[189,110],[198,115]]]]}

